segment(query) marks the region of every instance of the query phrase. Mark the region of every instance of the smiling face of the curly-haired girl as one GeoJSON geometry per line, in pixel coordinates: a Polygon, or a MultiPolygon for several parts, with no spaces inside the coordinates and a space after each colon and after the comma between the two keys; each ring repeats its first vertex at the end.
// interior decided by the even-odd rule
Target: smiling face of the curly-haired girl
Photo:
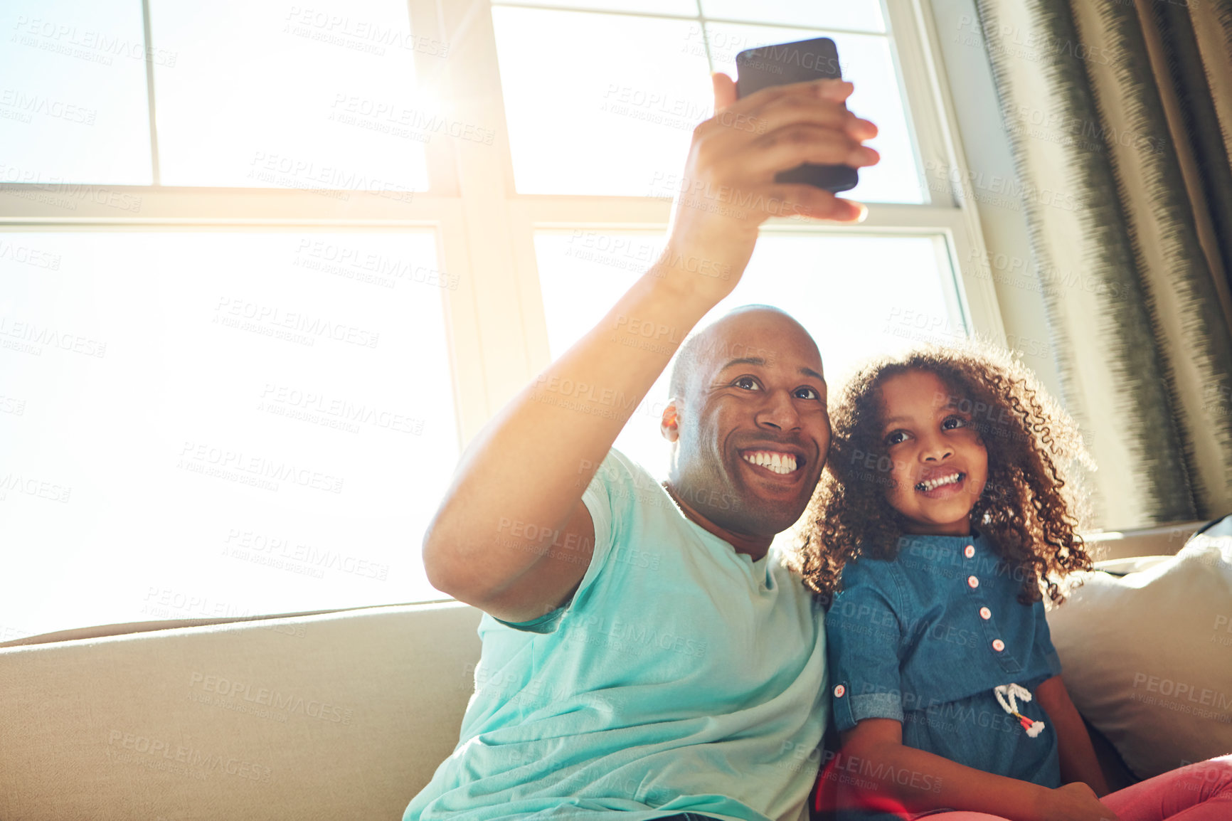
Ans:
{"type": "Polygon", "coordinates": [[[886,500],[909,520],[908,533],[971,533],[971,508],[988,481],[988,451],[958,399],[929,371],[881,385],[881,440],[894,480],[886,500]]]}

